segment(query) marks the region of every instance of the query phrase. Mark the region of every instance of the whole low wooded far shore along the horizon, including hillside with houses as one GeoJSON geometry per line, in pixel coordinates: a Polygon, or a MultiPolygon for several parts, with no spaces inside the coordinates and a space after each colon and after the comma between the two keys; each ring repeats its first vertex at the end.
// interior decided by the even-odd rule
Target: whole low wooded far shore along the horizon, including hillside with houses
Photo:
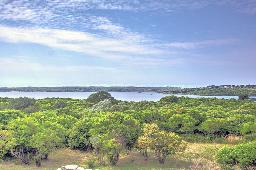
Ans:
{"type": "Polygon", "coordinates": [[[256,96],[256,85],[220,85],[196,88],[180,87],[0,87],[0,91],[41,91],[41,92],[76,92],[76,91],[145,91],[162,94],[181,94],[199,96],[239,96],[246,93],[256,96]]]}

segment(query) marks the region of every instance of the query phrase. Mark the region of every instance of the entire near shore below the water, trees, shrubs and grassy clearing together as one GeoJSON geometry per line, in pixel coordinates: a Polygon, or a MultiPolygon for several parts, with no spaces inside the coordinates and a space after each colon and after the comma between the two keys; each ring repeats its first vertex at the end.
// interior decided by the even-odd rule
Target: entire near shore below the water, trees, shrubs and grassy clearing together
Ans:
{"type": "Polygon", "coordinates": [[[56,169],[47,162],[75,152],[84,168],[253,170],[256,102],[239,99],[0,98],[0,169],[56,169]]]}

